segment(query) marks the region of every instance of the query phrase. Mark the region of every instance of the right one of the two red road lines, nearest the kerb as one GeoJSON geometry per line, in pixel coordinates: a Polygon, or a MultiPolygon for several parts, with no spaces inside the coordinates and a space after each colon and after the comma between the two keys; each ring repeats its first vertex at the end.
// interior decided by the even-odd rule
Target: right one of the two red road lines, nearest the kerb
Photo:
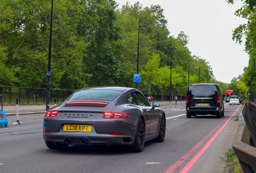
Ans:
{"type": "MultiPolygon", "coordinates": [[[[239,107],[240,108],[240,107],[239,107]]],[[[219,135],[219,133],[222,131],[222,129],[227,125],[229,120],[235,115],[235,113],[239,110],[235,110],[235,112],[229,117],[229,119],[225,122],[225,124],[213,135],[213,137],[202,147],[202,149],[188,162],[188,164],[180,171],[180,173],[186,173],[188,170],[196,163],[196,161],[199,159],[199,157],[204,153],[204,151],[211,145],[211,143],[214,141],[214,139],[219,135]]]]}

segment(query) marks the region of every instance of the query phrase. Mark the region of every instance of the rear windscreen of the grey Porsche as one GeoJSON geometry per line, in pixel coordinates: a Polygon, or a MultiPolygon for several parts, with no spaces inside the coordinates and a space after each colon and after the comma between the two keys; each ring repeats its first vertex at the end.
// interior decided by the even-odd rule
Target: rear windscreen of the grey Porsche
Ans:
{"type": "Polygon", "coordinates": [[[105,100],[113,101],[122,91],[115,90],[83,90],[74,93],[69,100],[105,100]]]}

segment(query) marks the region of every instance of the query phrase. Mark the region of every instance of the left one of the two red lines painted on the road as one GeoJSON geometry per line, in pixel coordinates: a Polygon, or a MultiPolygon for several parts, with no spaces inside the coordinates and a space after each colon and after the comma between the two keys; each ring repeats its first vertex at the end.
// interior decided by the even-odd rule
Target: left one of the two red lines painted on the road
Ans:
{"type": "MultiPolygon", "coordinates": [[[[235,111],[236,112],[236,111],[235,111]]],[[[231,115],[232,117],[233,115],[231,115]]],[[[230,117],[230,118],[231,118],[230,117]]],[[[230,119],[229,118],[229,119],[230,119]]],[[[229,119],[227,121],[229,121],[229,119]]],[[[223,121],[221,121],[221,123],[219,123],[219,125],[217,125],[217,127],[215,127],[208,135],[206,135],[198,144],[196,144],[196,146],[194,146],[190,151],[188,151],[188,153],[186,153],[182,158],[180,158],[176,163],[174,163],[171,167],[169,167],[164,173],[172,173],[173,171],[175,171],[175,169],[177,169],[184,161],[186,161],[186,159],[188,159],[188,157],[190,157],[190,155],[192,155],[201,145],[202,143],[204,143],[204,141],[211,136],[211,134],[220,127],[220,125],[226,121],[225,119],[223,121]]]]}

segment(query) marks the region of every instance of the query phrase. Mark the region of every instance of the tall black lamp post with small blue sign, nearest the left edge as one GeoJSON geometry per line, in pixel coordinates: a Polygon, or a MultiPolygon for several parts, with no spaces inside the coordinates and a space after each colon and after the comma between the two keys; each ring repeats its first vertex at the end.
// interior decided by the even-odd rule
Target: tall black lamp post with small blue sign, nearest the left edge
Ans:
{"type": "Polygon", "coordinates": [[[46,76],[47,76],[46,111],[48,111],[50,109],[50,84],[51,84],[51,61],[52,61],[52,23],[53,23],[53,0],[52,0],[51,23],[50,23],[48,71],[46,73],[46,76]]]}

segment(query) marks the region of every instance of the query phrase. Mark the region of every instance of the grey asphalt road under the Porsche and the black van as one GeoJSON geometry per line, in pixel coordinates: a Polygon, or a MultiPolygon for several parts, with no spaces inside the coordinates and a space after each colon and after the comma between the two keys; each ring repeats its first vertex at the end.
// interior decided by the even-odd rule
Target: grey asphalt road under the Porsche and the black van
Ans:
{"type": "MultiPolygon", "coordinates": [[[[167,129],[163,143],[148,141],[141,153],[127,146],[69,146],[50,150],[43,140],[44,114],[20,115],[24,125],[0,128],[0,173],[198,173],[232,123],[238,105],[225,105],[225,117],[186,118],[185,107],[161,106],[167,129]]],[[[211,170],[209,170],[211,172],[211,170]]]]}

